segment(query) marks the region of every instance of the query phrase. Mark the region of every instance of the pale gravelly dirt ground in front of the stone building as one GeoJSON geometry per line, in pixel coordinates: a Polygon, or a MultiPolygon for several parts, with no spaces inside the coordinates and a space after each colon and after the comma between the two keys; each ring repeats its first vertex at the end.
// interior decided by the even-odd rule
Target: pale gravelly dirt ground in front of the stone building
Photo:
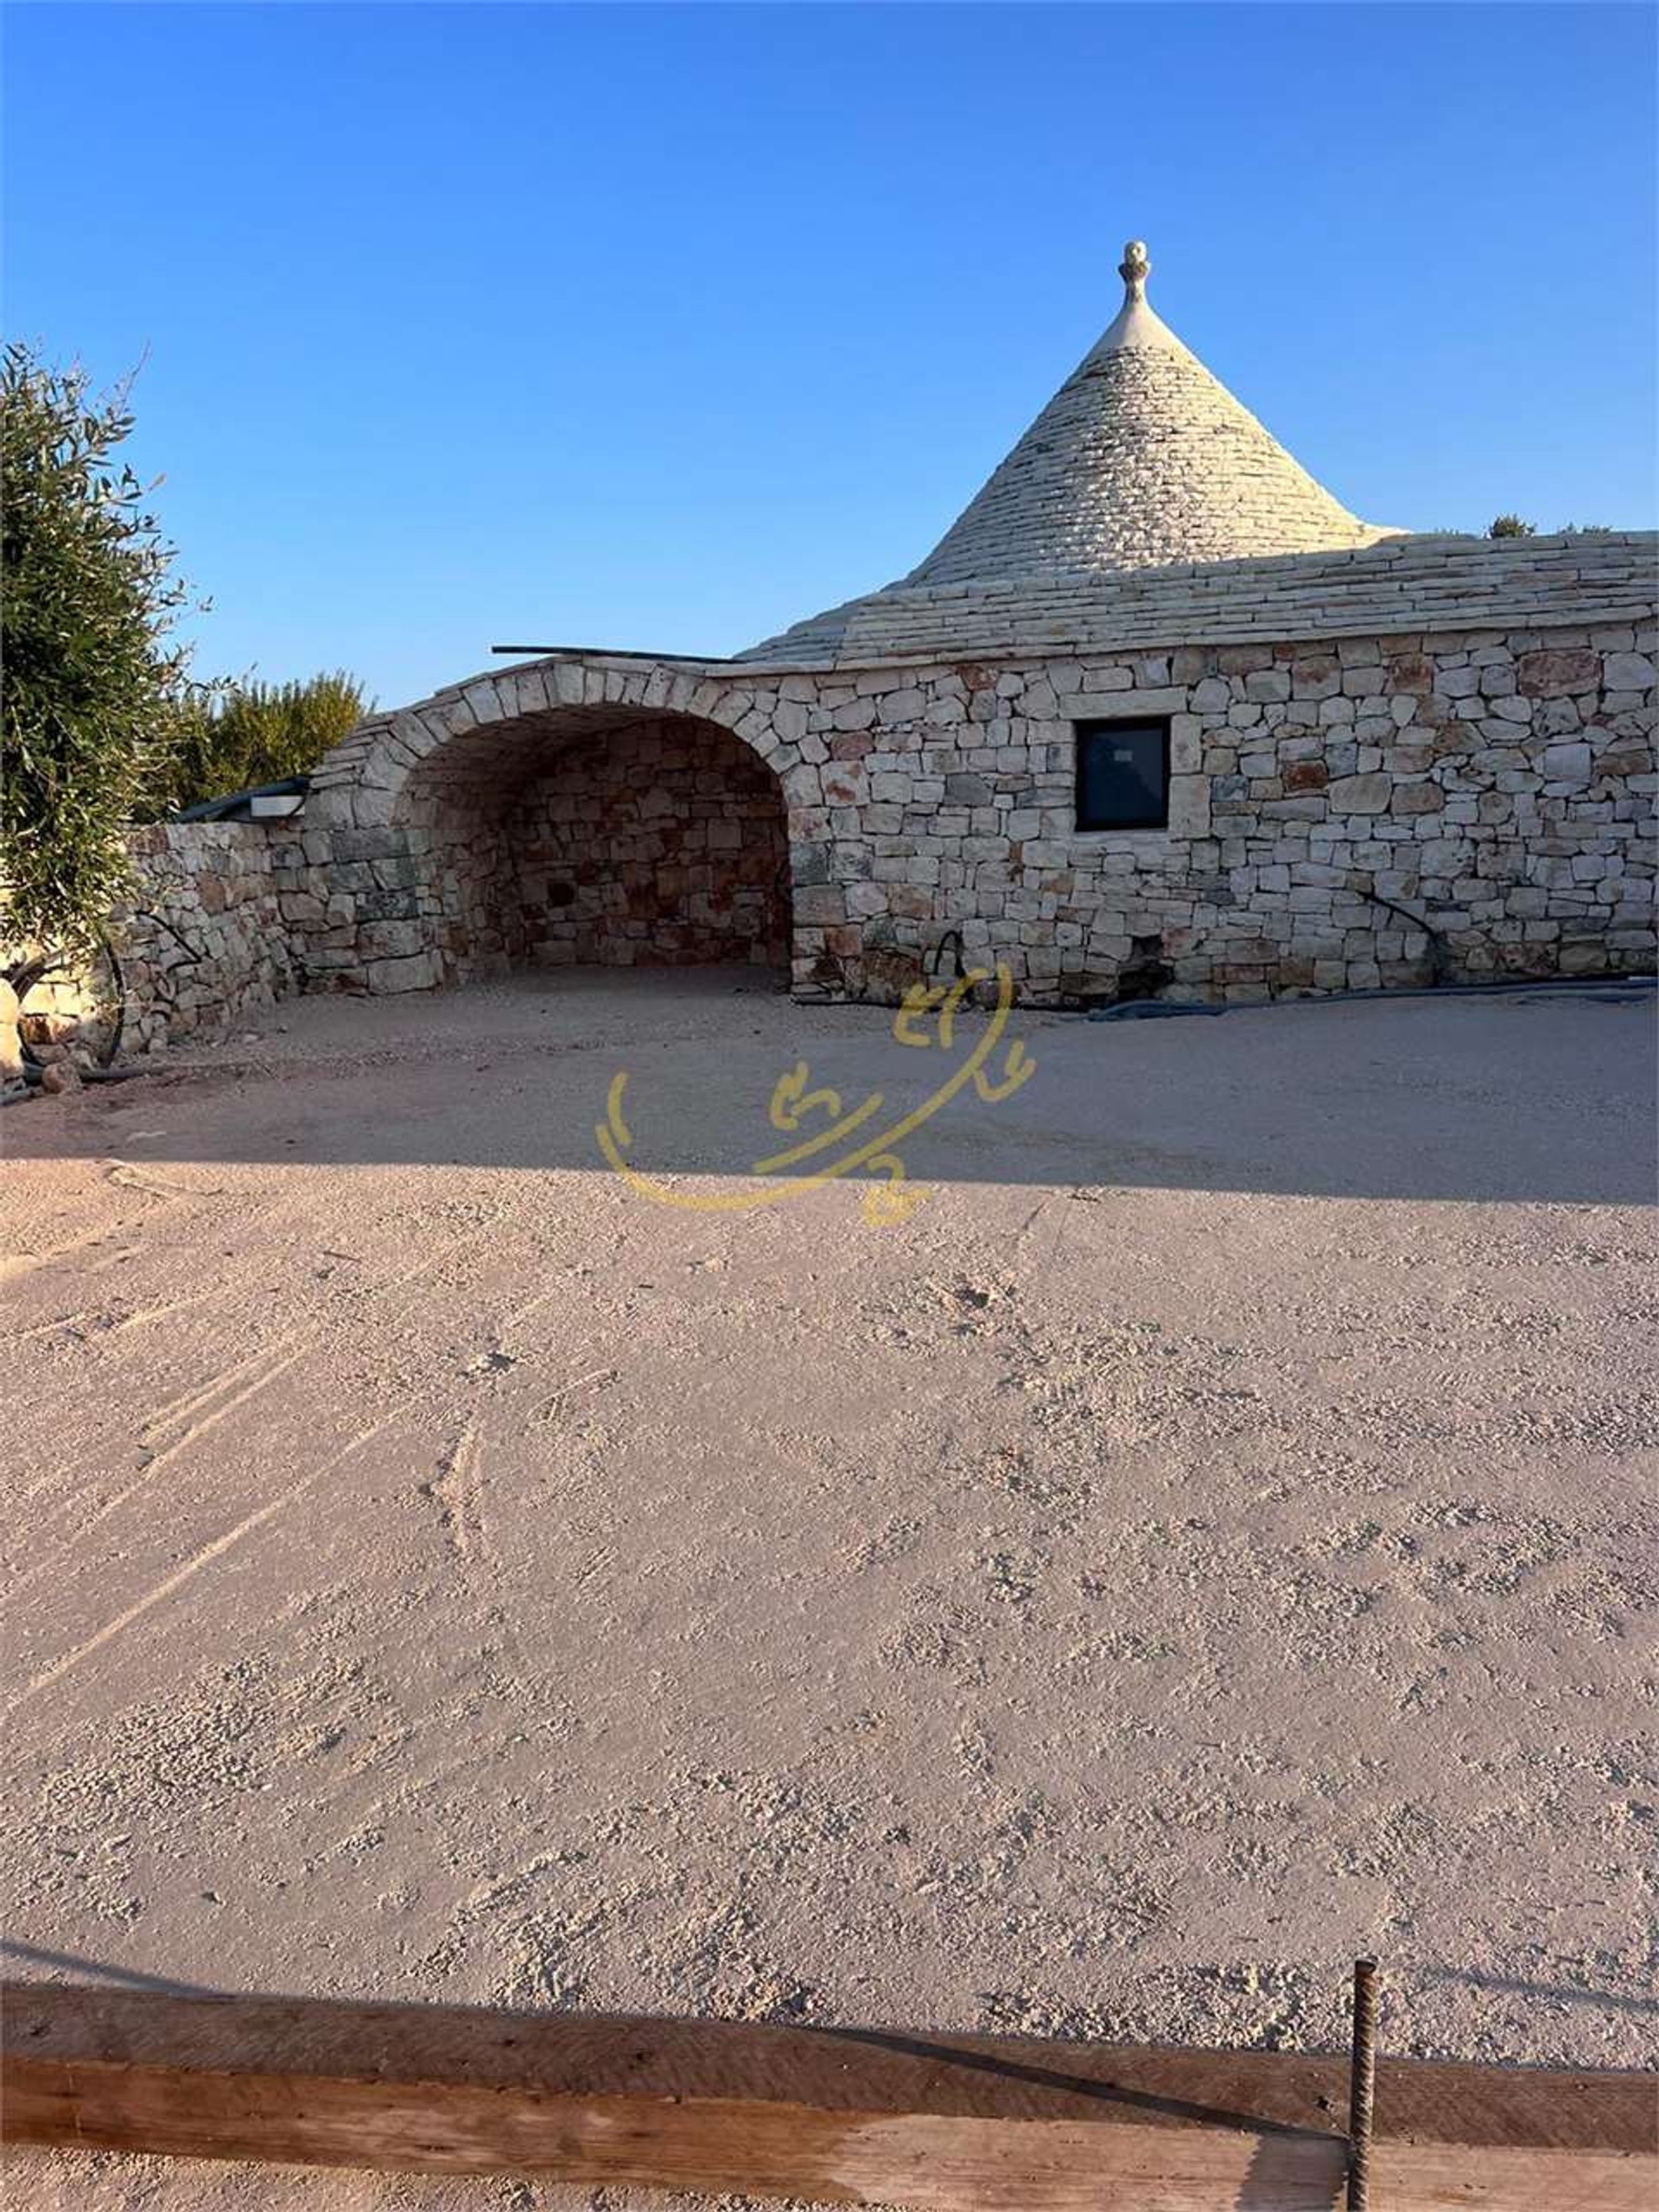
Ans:
{"type": "Polygon", "coordinates": [[[1321,2046],[1376,1951],[1394,2051],[1655,2062],[1650,1004],[1011,1033],[898,1225],[599,1157],[951,1064],[757,975],[7,1110],[7,1971],[1321,2046]]]}

